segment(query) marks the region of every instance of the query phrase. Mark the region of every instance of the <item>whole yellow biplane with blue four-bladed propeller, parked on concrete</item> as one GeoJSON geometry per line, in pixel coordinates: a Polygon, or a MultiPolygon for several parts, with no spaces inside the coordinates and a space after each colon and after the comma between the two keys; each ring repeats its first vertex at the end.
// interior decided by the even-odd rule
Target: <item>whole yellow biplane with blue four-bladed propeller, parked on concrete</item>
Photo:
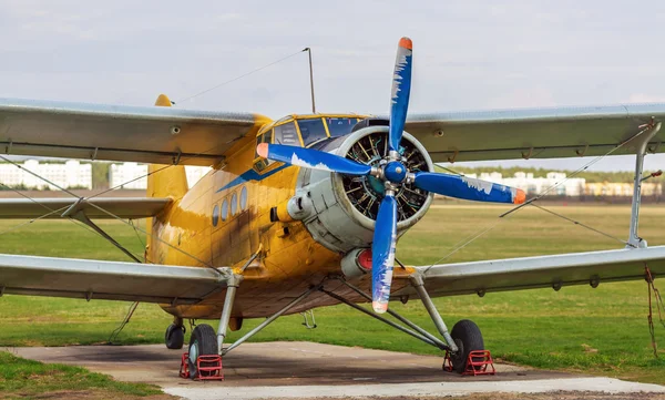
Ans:
{"type": "MultiPolygon", "coordinates": [[[[431,298],[591,285],[665,273],[665,246],[637,233],[647,153],[663,152],[665,104],[407,114],[412,43],[399,41],[390,112],[252,113],[0,100],[0,148],[32,155],[149,163],[141,198],[95,195],[0,201],[2,218],[73,218],[123,249],[131,263],[0,255],[0,294],[149,301],[173,315],[170,349],[197,325],[188,363],[224,356],[283,315],[350,305],[452,355],[463,371],[484,348],[470,320],[451,330],[431,298]],[[434,163],[634,154],[635,187],[626,246],[462,264],[406,266],[396,243],[427,213],[434,194],[529,204],[523,191],[434,172],[434,163]],[[185,165],[212,166],[193,187],[185,165]],[[149,218],[143,259],[103,229],[99,218],[149,218]],[[396,265],[397,263],[397,265],[396,265]],[[437,332],[388,307],[419,298],[437,332]],[[369,302],[371,309],[359,304],[369,302]],[[387,319],[389,314],[399,324],[387,319]],[[234,343],[228,330],[266,318],[234,343]]],[[[6,158],[3,156],[3,158],[6,158]]]]}

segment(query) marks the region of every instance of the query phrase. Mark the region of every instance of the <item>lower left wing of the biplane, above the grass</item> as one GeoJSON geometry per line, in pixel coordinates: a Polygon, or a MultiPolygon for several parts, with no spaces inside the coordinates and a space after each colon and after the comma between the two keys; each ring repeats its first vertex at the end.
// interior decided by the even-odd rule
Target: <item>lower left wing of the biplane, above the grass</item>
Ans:
{"type": "Polygon", "coordinates": [[[4,294],[195,304],[226,287],[211,268],[0,255],[4,294]]]}

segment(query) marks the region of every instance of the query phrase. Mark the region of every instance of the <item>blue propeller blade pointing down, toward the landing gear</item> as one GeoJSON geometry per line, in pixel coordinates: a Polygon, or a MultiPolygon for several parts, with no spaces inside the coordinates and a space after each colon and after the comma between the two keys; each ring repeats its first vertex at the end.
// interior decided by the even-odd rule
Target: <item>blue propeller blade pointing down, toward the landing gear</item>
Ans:
{"type": "Polygon", "coordinates": [[[371,306],[378,314],[388,310],[396,242],[397,202],[393,195],[387,194],[379,206],[371,245],[371,306]]]}

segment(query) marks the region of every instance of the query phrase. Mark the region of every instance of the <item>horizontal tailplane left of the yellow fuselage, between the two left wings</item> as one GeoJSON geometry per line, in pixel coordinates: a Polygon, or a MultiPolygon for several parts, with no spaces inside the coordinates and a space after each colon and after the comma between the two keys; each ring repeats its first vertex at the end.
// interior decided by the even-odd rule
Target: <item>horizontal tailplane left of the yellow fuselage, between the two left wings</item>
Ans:
{"type": "Polygon", "coordinates": [[[171,204],[161,197],[93,197],[93,198],[0,198],[0,218],[60,218],[82,211],[89,218],[147,218],[157,215],[171,204]],[[108,213],[102,212],[96,205],[108,213]]]}

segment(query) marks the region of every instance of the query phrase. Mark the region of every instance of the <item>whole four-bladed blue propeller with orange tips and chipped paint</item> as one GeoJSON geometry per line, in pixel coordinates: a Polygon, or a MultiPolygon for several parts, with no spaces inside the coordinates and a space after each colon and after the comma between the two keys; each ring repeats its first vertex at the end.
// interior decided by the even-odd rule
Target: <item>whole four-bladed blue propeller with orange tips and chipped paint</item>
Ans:
{"type": "Polygon", "coordinates": [[[372,308],[379,314],[388,310],[390,299],[398,220],[395,194],[403,183],[412,183],[422,191],[470,201],[509,204],[522,204],[525,201],[524,192],[519,188],[458,175],[408,171],[398,151],[409,107],[411,70],[412,43],[410,39],[401,38],[392,75],[388,154],[382,155],[383,162],[380,167],[314,148],[268,143],[262,143],[256,148],[265,158],[345,175],[371,175],[383,182],[383,198],[375,225],[371,259],[372,308]]]}

